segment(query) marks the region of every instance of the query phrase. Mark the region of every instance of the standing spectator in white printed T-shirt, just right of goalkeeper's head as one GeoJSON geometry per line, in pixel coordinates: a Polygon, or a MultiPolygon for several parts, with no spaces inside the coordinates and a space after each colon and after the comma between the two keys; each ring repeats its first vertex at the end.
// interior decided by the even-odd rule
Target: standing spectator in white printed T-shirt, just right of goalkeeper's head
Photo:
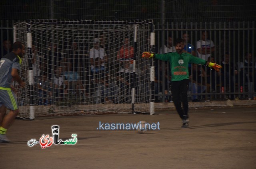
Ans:
{"type": "Polygon", "coordinates": [[[202,31],[201,39],[196,42],[197,57],[207,60],[211,53],[215,51],[215,46],[212,40],[207,39],[208,32],[202,31]]]}

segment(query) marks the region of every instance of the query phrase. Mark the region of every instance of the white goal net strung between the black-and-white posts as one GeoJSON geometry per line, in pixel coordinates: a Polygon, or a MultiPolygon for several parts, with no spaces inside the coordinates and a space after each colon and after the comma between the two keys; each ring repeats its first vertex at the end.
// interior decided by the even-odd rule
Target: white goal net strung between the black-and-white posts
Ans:
{"type": "Polygon", "coordinates": [[[20,116],[152,111],[152,60],[141,54],[154,51],[153,28],[152,20],[16,23],[14,41],[26,45],[20,116]]]}

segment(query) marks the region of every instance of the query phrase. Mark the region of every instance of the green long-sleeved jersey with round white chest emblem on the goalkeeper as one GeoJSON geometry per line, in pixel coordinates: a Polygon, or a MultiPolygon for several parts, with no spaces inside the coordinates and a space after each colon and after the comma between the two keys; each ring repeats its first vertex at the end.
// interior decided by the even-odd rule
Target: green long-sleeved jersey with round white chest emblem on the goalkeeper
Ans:
{"type": "Polygon", "coordinates": [[[155,58],[162,61],[170,62],[170,69],[172,80],[171,81],[182,81],[189,78],[188,74],[188,63],[205,64],[207,61],[194,57],[189,53],[165,53],[155,54],[155,58]]]}

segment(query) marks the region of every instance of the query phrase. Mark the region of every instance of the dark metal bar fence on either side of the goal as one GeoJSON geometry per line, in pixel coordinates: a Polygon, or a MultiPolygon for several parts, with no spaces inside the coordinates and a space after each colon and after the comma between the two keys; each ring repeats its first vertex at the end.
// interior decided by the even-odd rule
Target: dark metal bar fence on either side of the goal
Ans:
{"type": "MultiPolygon", "coordinates": [[[[13,22],[1,20],[1,42],[5,40],[4,37],[12,42],[13,22]],[[3,26],[3,22],[7,24],[3,26]]],[[[202,39],[202,33],[206,31],[215,47],[210,59],[223,68],[216,73],[202,65],[191,65],[191,99],[251,99],[256,96],[255,30],[255,22],[166,22],[164,26],[155,23],[156,52],[160,53],[160,47],[167,45],[169,36],[174,41],[186,33],[190,36],[188,43],[194,46],[197,53],[197,41],[202,39]]],[[[2,43],[1,55],[3,50],[2,43]]],[[[155,96],[159,101],[171,101],[170,66],[159,60],[156,60],[155,65],[156,78],[161,81],[155,83],[155,96]]]]}

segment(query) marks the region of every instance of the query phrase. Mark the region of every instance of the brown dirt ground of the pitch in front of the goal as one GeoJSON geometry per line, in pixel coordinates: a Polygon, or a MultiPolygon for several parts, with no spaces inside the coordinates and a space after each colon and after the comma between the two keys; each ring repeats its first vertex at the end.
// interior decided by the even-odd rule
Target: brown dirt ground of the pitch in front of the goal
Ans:
{"type": "MultiPolygon", "coordinates": [[[[190,127],[181,128],[174,109],[155,115],[113,114],[16,120],[0,143],[0,169],[255,169],[255,106],[190,109],[190,127]],[[160,130],[97,130],[100,122],[159,122],[160,130]],[[41,148],[43,134],[73,143],[41,148]],[[72,137],[77,134],[77,142],[72,137]],[[28,142],[31,146],[28,146],[28,142]],[[76,143],[75,143],[76,142],[76,143]]],[[[101,128],[102,129],[102,128],[101,128]]],[[[48,141],[49,145],[50,141],[48,141]]]]}

